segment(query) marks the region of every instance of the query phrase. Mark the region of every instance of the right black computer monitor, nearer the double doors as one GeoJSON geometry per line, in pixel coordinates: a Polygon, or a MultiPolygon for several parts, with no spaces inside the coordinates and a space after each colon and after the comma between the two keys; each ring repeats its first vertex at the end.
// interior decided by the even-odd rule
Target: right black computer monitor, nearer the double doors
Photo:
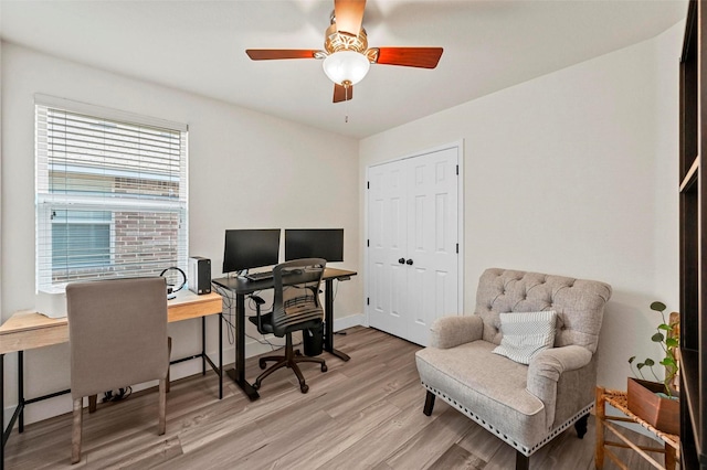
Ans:
{"type": "Polygon", "coordinates": [[[285,260],[324,258],[327,263],[344,260],[344,228],[285,229],[285,260]]]}

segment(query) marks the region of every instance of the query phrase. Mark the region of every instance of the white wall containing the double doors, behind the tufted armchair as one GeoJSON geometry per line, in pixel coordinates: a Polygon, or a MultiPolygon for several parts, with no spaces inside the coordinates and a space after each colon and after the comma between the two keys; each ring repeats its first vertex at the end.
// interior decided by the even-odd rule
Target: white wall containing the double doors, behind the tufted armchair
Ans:
{"type": "Polygon", "coordinates": [[[464,139],[466,311],[488,267],[611,284],[599,383],[615,388],[631,355],[655,352],[651,301],[677,309],[683,29],[360,142],[363,179],[372,163],[464,139]]]}

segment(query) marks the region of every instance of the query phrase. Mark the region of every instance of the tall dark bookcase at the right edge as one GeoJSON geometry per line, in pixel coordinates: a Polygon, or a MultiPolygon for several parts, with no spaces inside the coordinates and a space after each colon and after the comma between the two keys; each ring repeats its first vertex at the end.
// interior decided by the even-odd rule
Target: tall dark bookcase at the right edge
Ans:
{"type": "Polygon", "coordinates": [[[680,57],[680,459],[707,470],[707,6],[692,0],[680,57]]]}

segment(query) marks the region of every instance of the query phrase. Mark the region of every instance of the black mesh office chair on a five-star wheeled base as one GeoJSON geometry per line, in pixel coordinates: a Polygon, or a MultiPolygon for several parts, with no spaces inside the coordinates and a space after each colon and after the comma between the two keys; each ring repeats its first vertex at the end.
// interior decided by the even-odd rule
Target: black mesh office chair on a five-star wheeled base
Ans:
{"type": "Polygon", "coordinates": [[[281,367],[292,368],[299,380],[299,389],[307,393],[309,386],[297,366],[299,362],[316,362],[321,365],[321,372],[327,371],[326,362],[320,357],[302,355],[294,351],[292,345],[292,332],[299,330],[317,329],[324,319],[324,309],[319,302],[319,285],[326,260],[320,258],[295,259],[282,263],[273,269],[275,297],[273,311],[261,312],[263,299],[252,296],[255,300],[255,317],[249,320],[257,327],[261,334],[272,333],[275,337],[285,337],[285,355],[265,356],[260,359],[261,368],[265,368],[267,361],[276,361],[274,365],[263,372],[253,384],[258,389],[263,378],[281,367]]]}

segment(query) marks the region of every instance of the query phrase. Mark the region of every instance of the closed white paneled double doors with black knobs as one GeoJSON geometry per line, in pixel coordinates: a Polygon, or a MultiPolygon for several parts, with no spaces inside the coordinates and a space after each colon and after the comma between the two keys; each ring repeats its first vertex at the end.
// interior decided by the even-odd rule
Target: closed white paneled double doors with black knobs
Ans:
{"type": "Polygon", "coordinates": [[[426,345],[458,314],[458,148],[369,169],[369,323],[426,345]]]}

